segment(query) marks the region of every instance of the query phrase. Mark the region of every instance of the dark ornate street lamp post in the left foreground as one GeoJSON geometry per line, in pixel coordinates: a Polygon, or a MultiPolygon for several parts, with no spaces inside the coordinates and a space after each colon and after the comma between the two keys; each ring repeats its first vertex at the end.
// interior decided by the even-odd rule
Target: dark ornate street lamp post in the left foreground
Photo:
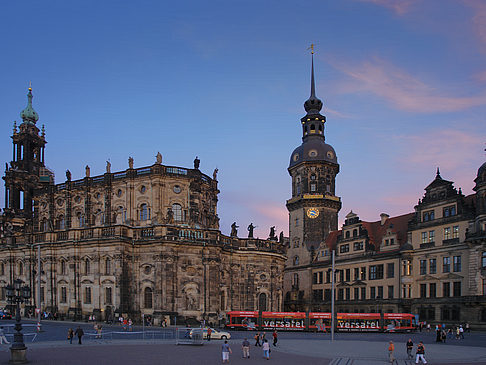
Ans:
{"type": "Polygon", "coordinates": [[[10,364],[25,364],[27,347],[24,344],[24,335],[22,334],[22,324],[20,322],[20,303],[30,298],[30,287],[22,286],[23,281],[16,279],[14,285],[7,285],[7,300],[15,304],[15,333],[14,341],[10,346],[10,364]]]}

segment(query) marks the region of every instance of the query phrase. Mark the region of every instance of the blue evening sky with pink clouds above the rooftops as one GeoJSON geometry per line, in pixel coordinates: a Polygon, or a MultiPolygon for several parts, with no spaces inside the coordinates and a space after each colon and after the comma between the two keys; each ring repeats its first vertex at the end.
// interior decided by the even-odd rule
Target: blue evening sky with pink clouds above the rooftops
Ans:
{"type": "MultiPolygon", "coordinates": [[[[288,233],[315,44],[340,225],[412,212],[440,167],[473,193],[486,147],[486,1],[10,1],[0,5],[0,162],[33,105],[65,180],[163,164],[219,169],[228,234],[288,233]]],[[[3,166],[3,165],[2,165],[3,166]]],[[[3,175],[3,174],[2,174],[3,175]]],[[[4,207],[4,187],[0,190],[4,207]]]]}

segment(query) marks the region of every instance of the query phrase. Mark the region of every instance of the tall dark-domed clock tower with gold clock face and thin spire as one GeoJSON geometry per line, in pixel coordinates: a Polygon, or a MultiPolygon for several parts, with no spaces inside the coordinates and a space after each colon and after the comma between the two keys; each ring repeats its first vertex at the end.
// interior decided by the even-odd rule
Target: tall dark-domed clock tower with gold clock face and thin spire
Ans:
{"type": "Polygon", "coordinates": [[[339,172],[336,152],[325,142],[326,117],[321,115],[322,101],[316,97],[314,52],[312,52],[311,93],[304,103],[301,118],[302,144],[290,156],[292,178],[289,211],[290,247],[285,273],[287,310],[308,310],[311,302],[311,262],[321,243],[338,229],[341,199],[335,195],[339,172]]]}

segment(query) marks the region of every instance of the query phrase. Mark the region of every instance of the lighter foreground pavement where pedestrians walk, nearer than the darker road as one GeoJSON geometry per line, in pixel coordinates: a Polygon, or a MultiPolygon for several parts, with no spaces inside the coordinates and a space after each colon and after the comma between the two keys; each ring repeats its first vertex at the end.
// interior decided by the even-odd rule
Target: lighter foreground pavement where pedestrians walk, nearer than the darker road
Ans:
{"type": "MultiPolygon", "coordinates": [[[[263,364],[274,362],[281,365],[385,365],[387,342],[368,341],[279,341],[272,347],[271,359],[262,357],[261,348],[251,346],[251,358],[241,358],[241,340],[230,340],[233,350],[231,364],[263,364]]],[[[404,344],[395,343],[397,365],[412,365],[401,351],[404,344]]],[[[9,345],[0,347],[0,364],[8,363],[9,345]]],[[[31,364],[69,365],[125,365],[125,364],[196,364],[221,363],[221,341],[205,342],[203,346],[176,346],[173,341],[91,341],[83,345],[69,345],[66,341],[28,343],[27,357],[31,364]]],[[[458,347],[427,345],[426,357],[430,365],[486,365],[486,347],[458,347]]]]}

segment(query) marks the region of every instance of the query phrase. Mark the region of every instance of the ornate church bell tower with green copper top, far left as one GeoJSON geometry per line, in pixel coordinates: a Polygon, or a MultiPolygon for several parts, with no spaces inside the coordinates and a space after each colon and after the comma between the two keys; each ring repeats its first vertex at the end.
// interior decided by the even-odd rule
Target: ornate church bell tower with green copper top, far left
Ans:
{"type": "Polygon", "coordinates": [[[12,231],[21,231],[32,224],[34,193],[42,182],[49,183],[52,173],[44,165],[46,145],[44,127],[36,123],[39,115],[32,107],[32,88],[27,93],[27,106],[20,113],[22,124],[14,122],[12,161],[5,164],[5,209],[3,219],[12,231]]]}

